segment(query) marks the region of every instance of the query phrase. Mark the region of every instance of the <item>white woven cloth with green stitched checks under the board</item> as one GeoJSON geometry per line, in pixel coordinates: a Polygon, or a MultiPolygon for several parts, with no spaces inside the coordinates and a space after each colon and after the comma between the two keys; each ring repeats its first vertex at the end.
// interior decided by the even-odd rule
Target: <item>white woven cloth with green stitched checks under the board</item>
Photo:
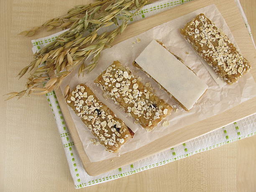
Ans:
{"type": "MultiPolygon", "coordinates": [[[[143,7],[141,12],[133,17],[133,22],[157,14],[169,8],[173,8],[177,5],[187,3],[189,1],[190,0],[162,0],[156,3],[146,5],[143,7]]],[[[245,25],[248,29],[248,33],[252,38],[250,27],[248,25],[246,16],[243,12],[239,0],[236,0],[236,3],[239,10],[241,11],[241,15],[243,16],[245,25]]],[[[38,51],[51,41],[55,41],[56,37],[63,32],[64,31],[61,31],[45,38],[32,40],[32,51],[38,51]]],[[[46,97],[49,101],[49,105],[56,120],[57,128],[59,130],[61,141],[63,143],[64,151],[69,164],[70,173],[74,179],[74,185],[76,188],[87,187],[94,184],[108,182],[119,177],[125,177],[130,174],[135,174],[146,169],[161,166],[172,161],[176,161],[191,156],[193,154],[207,151],[212,148],[216,148],[227,143],[234,142],[239,139],[250,137],[256,134],[256,114],[254,114],[250,117],[244,118],[238,122],[227,125],[211,133],[207,133],[206,135],[196,138],[187,143],[183,143],[174,148],[170,148],[154,156],[142,159],[140,161],[136,161],[133,164],[120,167],[118,169],[98,175],[96,177],[92,177],[88,175],[83,169],[81,160],[79,159],[76,148],[74,147],[74,142],[72,141],[72,138],[70,136],[69,129],[61,113],[61,109],[55,92],[49,92],[48,94],[46,94],[46,97]]]]}

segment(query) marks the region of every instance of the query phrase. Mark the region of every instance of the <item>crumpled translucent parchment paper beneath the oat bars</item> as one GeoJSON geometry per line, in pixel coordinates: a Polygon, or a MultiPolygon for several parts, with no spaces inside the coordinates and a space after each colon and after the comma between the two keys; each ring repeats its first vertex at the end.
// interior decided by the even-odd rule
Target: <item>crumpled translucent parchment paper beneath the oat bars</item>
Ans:
{"type": "MultiPolygon", "coordinates": [[[[217,7],[215,5],[209,5],[175,20],[151,28],[138,36],[116,44],[110,49],[105,49],[102,51],[97,67],[90,74],[85,74],[84,77],[78,78],[77,72],[75,71],[61,84],[62,92],[67,84],[70,85],[71,90],[73,90],[79,83],[87,84],[87,86],[95,92],[95,95],[97,95],[103,103],[108,105],[108,107],[117,114],[118,118],[121,118],[135,133],[134,138],[125,143],[125,145],[120,148],[118,154],[110,154],[105,151],[104,146],[96,146],[92,144],[90,139],[94,138],[94,136],[74,111],[69,108],[69,112],[74,120],[79,137],[83,143],[84,151],[90,161],[101,161],[119,154],[124,154],[128,151],[133,151],[179,128],[204,120],[218,113],[222,113],[223,111],[233,108],[241,102],[256,96],[256,83],[250,73],[244,75],[238,83],[224,86],[218,85],[205,68],[203,64],[205,61],[195,53],[192,47],[181,36],[179,28],[182,28],[187,22],[192,20],[192,18],[195,18],[195,16],[200,13],[204,13],[208,18],[210,18],[210,20],[212,20],[213,23],[216,24],[216,26],[222,28],[228,38],[230,38],[230,41],[238,47],[230,29],[225,23],[225,20],[217,7]],[[141,42],[137,43],[136,38],[139,38],[141,42]],[[179,107],[177,103],[175,103],[174,100],[166,94],[166,92],[160,90],[154,80],[148,78],[143,72],[132,66],[132,62],[153,39],[163,42],[172,53],[181,57],[184,60],[184,63],[190,67],[209,87],[189,112],[179,107]],[[142,82],[150,82],[151,86],[154,87],[156,95],[161,99],[164,99],[170,105],[177,106],[177,113],[172,112],[172,114],[166,118],[170,123],[168,127],[162,127],[162,123],[159,123],[153,131],[146,132],[146,130],[139,124],[134,124],[134,120],[121,111],[120,108],[112,102],[112,100],[106,100],[102,96],[102,90],[100,90],[93,81],[115,60],[119,60],[122,64],[128,66],[134,75],[141,77],[142,82]]],[[[168,80],[168,77],[166,77],[166,80],[168,80]]]]}

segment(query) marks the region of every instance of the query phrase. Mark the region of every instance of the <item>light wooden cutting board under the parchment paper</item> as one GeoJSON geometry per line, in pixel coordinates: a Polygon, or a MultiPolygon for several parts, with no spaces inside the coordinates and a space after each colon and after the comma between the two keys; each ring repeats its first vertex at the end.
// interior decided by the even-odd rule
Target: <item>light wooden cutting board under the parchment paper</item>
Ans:
{"type": "MultiPolygon", "coordinates": [[[[203,8],[210,4],[215,4],[220,13],[223,15],[226,23],[228,24],[231,32],[233,33],[236,43],[241,49],[241,53],[251,63],[251,74],[253,75],[253,78],[256,79],[256,50],[253,46],[251,38],[243,22],[243,18],[234,0],[194,0],[190,3],[179,5],[175,8],[166,10],[157,15],[132,23],[126,28],[122,36],[119,36],[115,40],[115,44],[133,36],[136,36],[140,33],[143,33],[144,31],[147,31],[154,26],[160,25],[169,20],[173,20],[182,15],[186,15],[187,13],[203,8]]],[[[91,162],[84,151],[82,142],[80,141],[79,135],[69,113],[67,104],[65,103],[61,90],[56,90],[56,96],[59,101],[59,105],[61,107],[65,121],[68,125],[69,131],[71,133],[72,139],[74,141],[74,145],[77,148],[77,152],[84,166],[84,169],[91,176],[96,176],[104,172],[108,172],[112,169],[131,164],[134,161],[138,161],[147,156],[151,156],[161,151],[165,151],[169,148],[177,146],[181,143],[185,143],[210,131],[214,131],[229,123],[256,113],[256,97],[254,97],[253,99],[243,102],[240,105],[225,111],[224,113],[215,115],[211,118],[207,118],[195,124],[181,128],[147,144],[146,146],[138,148],[135,151],[128,152],[119,157],[114,157],[98,162],[91,162]]]]}

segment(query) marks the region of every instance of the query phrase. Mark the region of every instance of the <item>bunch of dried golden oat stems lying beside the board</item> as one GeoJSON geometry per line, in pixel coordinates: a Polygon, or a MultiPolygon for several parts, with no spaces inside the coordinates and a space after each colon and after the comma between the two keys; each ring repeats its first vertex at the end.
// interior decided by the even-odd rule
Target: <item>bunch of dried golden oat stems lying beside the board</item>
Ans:
{"type": "MultiPolygon", "coordinates": [[[[23,35],[31,36],[46,26],[66,28],[68,25],[63,27],[64,23],[72,24],[68,31],[56,38],[56,41],[47,44],[41,51],[34,54],[33,61],[18,74],[21,78],[33,70],[28,77],[26,89],[9,93],[10,96],[7,99],[17,96],[20,98],[26,94],[43,95],[57,89],[63,79],[77,68],[78,76],[84,75],[84,72],[91,72],[97,66],[101,51],[111,47],[115,37],[123,33],[128,21],[146,3],[146,0],[97,1],[89,5],[76,6],[69,10],[67,15],[49,20],[42,26],[31,29],[28,33],[23,31],[23,35]],[[115,25],[115,30],[99,33],[102,27],[110,25],[115,25]],[[43,63],[44,66],[41,65],[43,63]],[[38,67],[39,65],[41,67],[38,67]],[[54,75],[44,85],[44,88],[40,88],[48,79],[48,74],[54,75]]],[[[69,87],[67,87],[65,95],[69,92],[69,87]]]]}

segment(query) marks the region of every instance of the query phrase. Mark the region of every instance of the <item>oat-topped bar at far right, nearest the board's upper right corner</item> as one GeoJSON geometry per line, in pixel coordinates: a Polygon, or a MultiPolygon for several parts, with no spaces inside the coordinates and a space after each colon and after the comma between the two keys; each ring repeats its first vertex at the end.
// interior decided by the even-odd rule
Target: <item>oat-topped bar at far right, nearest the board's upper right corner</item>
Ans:
{"type": "Polygon", "coordinates": [[[180,32],[228,84],[237,82],[251,69],[249,62],[238,52],[225,33],[204,14],[197,15],[180,32]]]}

